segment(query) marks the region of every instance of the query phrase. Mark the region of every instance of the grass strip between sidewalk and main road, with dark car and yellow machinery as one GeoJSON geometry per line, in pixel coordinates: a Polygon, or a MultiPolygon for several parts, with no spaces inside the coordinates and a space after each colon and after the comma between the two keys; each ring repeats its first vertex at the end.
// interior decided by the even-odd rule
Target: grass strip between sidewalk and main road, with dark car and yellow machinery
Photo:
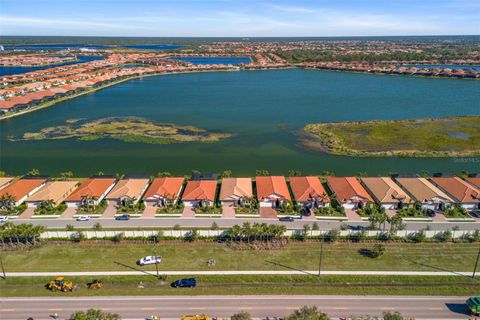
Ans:
{"type": "Polygon", "coordinates": [[[197,287],[174,289],[154,276],[102,277],[103,288],[88,290],[88,277],[69,277],[78,284],[71,293],[51,292],[44,286],[52,278],[28,277],[0,280],[0,296],[82,295],[226,295],[226,294],[352,294],[352,295],[474,295],[478,279],[466,277],[384,276],[197,276],[197,287]],[[138,288],[142,283],[143,289],[138,288]]]}

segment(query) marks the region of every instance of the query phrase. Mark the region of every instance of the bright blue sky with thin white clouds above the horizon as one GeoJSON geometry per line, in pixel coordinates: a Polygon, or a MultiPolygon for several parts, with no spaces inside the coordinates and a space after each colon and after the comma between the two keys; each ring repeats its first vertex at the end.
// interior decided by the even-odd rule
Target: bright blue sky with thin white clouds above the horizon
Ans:
{"type": "Polygon", "coordinates": [[[0,0],[1,35],[480,34],[480,0],[0,0]]]}

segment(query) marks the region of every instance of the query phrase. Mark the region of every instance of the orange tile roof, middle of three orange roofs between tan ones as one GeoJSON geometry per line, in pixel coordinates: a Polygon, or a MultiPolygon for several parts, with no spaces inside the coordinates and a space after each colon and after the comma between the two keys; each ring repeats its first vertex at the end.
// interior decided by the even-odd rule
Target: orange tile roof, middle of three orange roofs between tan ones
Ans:
{"type": "Polygon", "coordinates": [[[318,177],[290,177],[289,180],[296,201],[330,202],[330,198],[318,177]]]}

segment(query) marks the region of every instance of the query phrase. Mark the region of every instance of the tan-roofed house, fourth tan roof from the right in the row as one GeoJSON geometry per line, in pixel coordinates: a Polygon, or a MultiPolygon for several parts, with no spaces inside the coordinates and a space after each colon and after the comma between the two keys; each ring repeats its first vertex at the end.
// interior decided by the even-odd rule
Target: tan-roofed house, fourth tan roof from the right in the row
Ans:
{"type": "Polygon", "coordinates": [[[150,179],[122,179],[107,194],[105,200],[114,205],[136,204],[148,188],[150,179]]]}

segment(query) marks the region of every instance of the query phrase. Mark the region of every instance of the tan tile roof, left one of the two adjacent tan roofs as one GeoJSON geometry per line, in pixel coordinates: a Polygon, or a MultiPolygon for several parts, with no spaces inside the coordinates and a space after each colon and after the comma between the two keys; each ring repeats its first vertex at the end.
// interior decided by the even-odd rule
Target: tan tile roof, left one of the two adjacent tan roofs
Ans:
{"type": "Polygon", "coordinates": [[[410,196],[389,177],[362,178],[363,184],[380,203],[410,203],[410,196]]]}

